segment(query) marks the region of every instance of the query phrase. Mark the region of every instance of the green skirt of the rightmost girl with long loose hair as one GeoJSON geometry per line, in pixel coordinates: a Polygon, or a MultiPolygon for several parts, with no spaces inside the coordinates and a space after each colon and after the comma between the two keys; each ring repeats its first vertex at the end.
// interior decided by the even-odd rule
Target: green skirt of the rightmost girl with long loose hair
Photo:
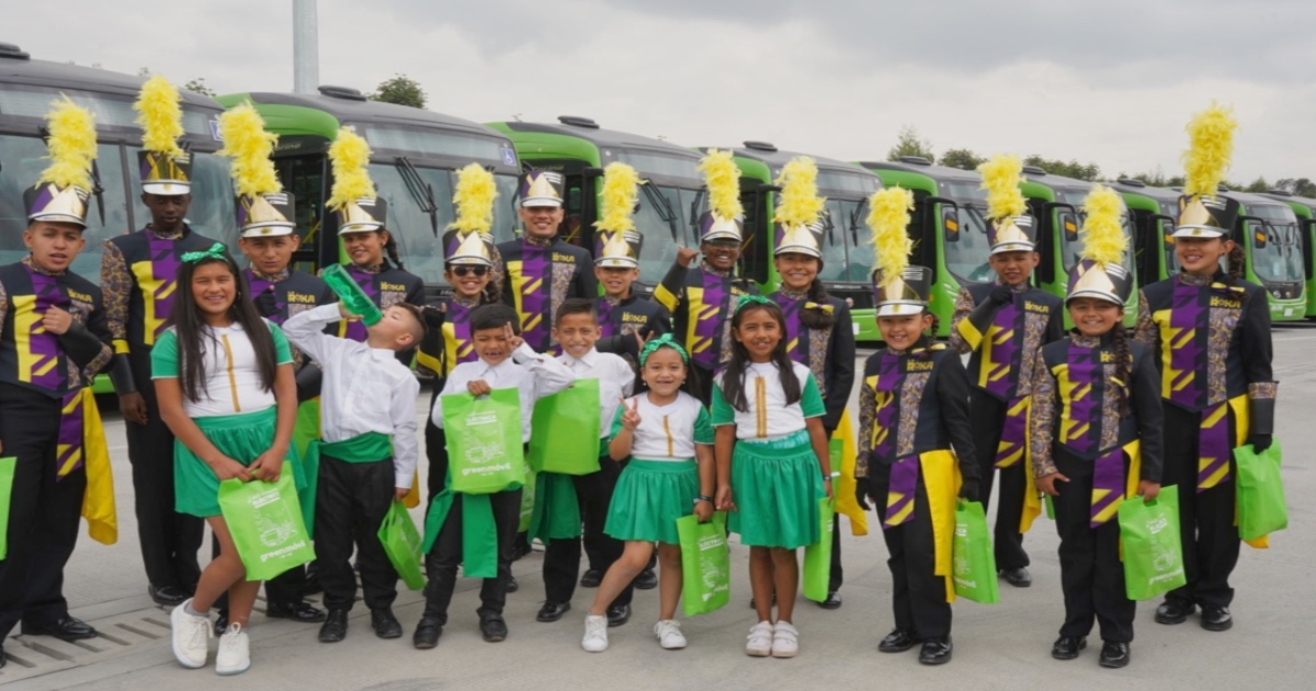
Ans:
{"type": "Polygon", "coordinates": [[[822,470],[807,430],[771,444],[737,441],[730,530],[742,545],[796,549],[819,541],[822,470]]]}

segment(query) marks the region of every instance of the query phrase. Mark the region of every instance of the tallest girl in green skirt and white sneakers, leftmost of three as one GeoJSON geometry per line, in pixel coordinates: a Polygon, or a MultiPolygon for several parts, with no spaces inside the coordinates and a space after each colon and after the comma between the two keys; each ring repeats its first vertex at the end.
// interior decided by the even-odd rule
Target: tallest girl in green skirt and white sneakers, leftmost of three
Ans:
{"type": "Polygon", "coordinates": [[[292,354],[283,332],[261,319],[246,282],[222,245],[182,257],[170,328],[151,351],[161,417],[178,438],[174,449],[176,508],[204,517],[220,555],[201,573],[196,595],[170,616],[174,655],[203,667],[212,636],[209,608],[229,594],[229,628],[215,661],[218,674],[245,671],[246,627],[261,582],[246,569],[220,515],[220,480],[276,482],[291,457],[297,415],[292,354]]]}

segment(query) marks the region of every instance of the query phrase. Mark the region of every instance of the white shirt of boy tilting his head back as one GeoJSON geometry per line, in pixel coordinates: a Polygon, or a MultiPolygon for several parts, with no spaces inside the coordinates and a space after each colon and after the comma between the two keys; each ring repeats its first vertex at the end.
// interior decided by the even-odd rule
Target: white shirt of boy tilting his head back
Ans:
{"type": "Polygon", "coordinates": [[[416,396],[420,382],[397,354],[324,333],[341,320],[338,304],[288,317],[283,333],[324,370],[320,438],[347,441],[367,432],[393,438],[395,487],[409,490],[416,475],[416,396]]]}

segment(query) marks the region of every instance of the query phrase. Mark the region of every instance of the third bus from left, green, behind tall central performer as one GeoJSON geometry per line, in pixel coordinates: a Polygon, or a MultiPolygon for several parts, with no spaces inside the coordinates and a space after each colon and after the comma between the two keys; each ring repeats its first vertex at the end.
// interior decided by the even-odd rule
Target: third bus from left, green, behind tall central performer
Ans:
{"type": "MultiPolygon", "coordinates": [[[[636,168],[640,186],[636,228],[644,233],[640,280],[651,294],[676,261],[679,247],[699,246],[699,213],[708,208],[699,174],[699,153],[662,140],[603,129],[588,117],[562,116],[558,122],[490,122],[511,138],[528,168],[561,172],[565,180],[563,240],[594,253],[603,168],[620,161],[636,168]]],[[[747,208],[747,205],[746,205],[747,208]]]]}

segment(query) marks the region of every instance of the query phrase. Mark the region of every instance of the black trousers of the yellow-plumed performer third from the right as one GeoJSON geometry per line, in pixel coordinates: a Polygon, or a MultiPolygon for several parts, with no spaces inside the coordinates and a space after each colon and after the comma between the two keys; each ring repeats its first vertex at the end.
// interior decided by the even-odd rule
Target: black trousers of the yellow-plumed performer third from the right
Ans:
{"type": "Polygon", "coordinates": [[[1024,492],[1028,491],[1028,478],[1024,475],[1028,462],[1021,458],[1011,467],[996,469],[996,446],[1000,445],[1000,430],[1005,425],[1005,401],[978,387],[970,387],[969,424],[974,434],[974,453],[978,454],[978,496],[984,512],[991,508],[991,488],[1000,474],[1000,503],[996,505],[996,524],[992,529],[992,551],[996,553],[996,569],[1000,570],[1023,569],[1030,563],[1024,551],[1024,534],[1019,532],[1019,521],[1024,516],[1024,492]]]}

